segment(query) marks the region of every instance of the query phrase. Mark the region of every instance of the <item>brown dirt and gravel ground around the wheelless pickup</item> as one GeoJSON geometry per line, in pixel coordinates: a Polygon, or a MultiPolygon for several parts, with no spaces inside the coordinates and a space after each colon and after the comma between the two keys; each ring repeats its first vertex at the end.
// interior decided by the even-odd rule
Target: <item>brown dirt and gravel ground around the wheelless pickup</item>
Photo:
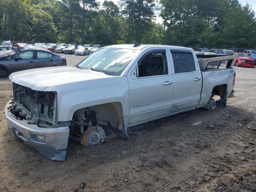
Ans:
{"type": "Polygon", "coordinates": [[[4,106],[12,84],[0,79],[1,192],[256,192],[256,69],[236,69],[226,108],[196,109],[110,134],[99,146],[69,141],[56,162],[12,137],[4,106]],[[195,122],[202,123],[192,126],[195,122]]]}

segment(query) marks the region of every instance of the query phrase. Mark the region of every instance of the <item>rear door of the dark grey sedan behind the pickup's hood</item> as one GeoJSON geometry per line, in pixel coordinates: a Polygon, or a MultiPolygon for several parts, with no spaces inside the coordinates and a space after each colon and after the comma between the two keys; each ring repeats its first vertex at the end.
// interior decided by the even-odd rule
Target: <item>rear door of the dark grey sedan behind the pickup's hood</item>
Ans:
{"type": "Polygon", "coordinates": [[[44,51],[36,51],[36,64],[35,68],[41,67],[53,67],[56,66],[56,59],[54,59],[54,55],[49,52],[44,51]]]}

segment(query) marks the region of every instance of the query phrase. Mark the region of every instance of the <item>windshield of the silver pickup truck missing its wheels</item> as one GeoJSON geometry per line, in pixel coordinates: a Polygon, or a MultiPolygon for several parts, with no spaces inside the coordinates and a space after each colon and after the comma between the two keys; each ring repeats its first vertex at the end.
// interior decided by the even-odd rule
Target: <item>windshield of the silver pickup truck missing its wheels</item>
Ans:
{"type": "Polygon", "coordinates": [[[107,75],[119,76],[139,50],[123,48],[101,48],[76,66],[83,69],[93,68],[107,75]]]}

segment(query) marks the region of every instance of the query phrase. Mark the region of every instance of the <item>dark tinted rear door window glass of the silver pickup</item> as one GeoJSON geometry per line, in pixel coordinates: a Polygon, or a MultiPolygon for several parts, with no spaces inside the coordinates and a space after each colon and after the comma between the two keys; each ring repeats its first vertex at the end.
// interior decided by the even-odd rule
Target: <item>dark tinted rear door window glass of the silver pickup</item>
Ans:
{"type": "Polygon", "coordinates": [[[190,52],[172,52],[175,73],[186,73],[196,70],[194,57],[190,52]]]}

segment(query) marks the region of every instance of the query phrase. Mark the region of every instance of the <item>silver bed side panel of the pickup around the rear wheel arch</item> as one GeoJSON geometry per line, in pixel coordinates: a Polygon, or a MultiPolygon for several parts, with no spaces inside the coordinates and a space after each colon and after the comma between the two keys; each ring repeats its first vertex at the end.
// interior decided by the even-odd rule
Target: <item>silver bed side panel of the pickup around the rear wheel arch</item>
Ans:
{"type": "Polygon", "coordinates": [[[227,85],[227,95],[229,96],[234,88],[234,69],[224,69],[224,70],[210,70],[202,72],[203,84],[202,84],[202,94],[201,100],[198,107],[204,106],[208,103],[210,96],[212,94],[212,89],[217,85],[226,84],[227,85]]]}

